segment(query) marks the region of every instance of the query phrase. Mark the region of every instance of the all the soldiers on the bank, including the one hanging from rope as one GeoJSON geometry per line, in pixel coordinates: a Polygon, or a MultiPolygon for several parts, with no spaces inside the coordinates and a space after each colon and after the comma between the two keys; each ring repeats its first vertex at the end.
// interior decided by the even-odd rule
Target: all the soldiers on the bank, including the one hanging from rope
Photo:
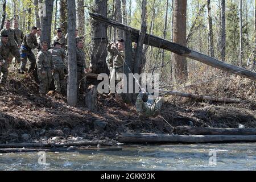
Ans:
{"type": "MultiPolygon", "coordinates": [[[[18,21],[14,20],[13,28],[11,28],[10,20],[5,21],[5,28],[0,31],[0,71],[1,80],[0,86],[6,84],[8,76],[8,68],[13,61],[19,73],[32,73],[36,80],[39,81],[40,96],[46,96],[50,89],[52,80],[54,81],[56,93],[66,93],[66,75],[67,75],[67,39],[68,35],[64,36],[61,28],[55,30],[56,36],[53,38],[52,44],[41,41],[41,30],[37,27],[31,27],[30,33],[24,35],[23,31],[18,28],[18,21]],[[50,47],[50,48],[49,48],[50,47]],[[27,60],[30,61],[30,66],[27,69],[27,60]],[[17,65],[20,64],[20,65],[17,65]]],[[[84,73],[88,72],[85,63],[84,41],[82,37],[76,36],[76,54],[77,54],[77,83],[78,91],[85,92],[85,77],[84,73]]],[[[135,49],[133,48],[133,63],[135,59],[135,49]]],[[[115,43],[110,43],[107,47],[108,57],[106,63],[110,71],[110,83],[121,81],[118,77],[119,73],[123,73],[123,65],[125,63],[125,46],[124,40],[118,39],[115,43]]],[[[115,94],[115,84],[110,84],[109,95],[115,94]],[[112,88],[114,87],[114,88],[112,88]]],[[[140,119],[147,117],[155,117],[160,113],[162,106],[162,97],[152,100],[146,92],[141,92],[138,95],[137,112],[140,119]]]]}

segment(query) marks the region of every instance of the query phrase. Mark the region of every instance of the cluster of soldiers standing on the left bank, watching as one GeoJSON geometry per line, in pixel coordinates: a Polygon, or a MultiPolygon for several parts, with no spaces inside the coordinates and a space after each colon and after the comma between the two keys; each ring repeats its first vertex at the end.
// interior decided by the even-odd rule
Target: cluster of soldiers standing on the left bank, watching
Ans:
{"type": "MultiPolygon", "coordinates": [[[[8,68],[13,61],[14,67],[21,74],[32,73],[36,80],[39,81],[40,96],[46,96],[49,91],[52,80],[54,81],[56,93],[66,93],[67,75],[67,35],[64,36],[61,28],[55,30],[56,36],[52,44],[41,41],[41,29],[31,27],[30,33],[24,35],[23,31],[18,28],[18,21],[14,20],[11,28],[10,20],[5,21],[5,28],[0,31],[0,86],[6,84],[8,68]],[[49,47],[51,47],[49,49],[49,47]],[[30,66],[27,69],[27,60],[30,66]],[[19,65],[20,64],[20,65],[19,65]]],[[[81,92],[85,90],[84,73],[87,71],[85,63],[84,41],[77,36],[77,80],[81,92]]]]}

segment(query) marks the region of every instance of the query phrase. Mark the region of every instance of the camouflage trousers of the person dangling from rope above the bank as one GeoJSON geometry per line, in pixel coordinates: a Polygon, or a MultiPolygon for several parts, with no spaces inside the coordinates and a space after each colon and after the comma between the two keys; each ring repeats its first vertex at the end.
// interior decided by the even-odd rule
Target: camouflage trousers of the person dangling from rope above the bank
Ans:
{"type": "Polygon", "coordinates": [[[155,110],[160,111],[162,104],[163,104],[163,98],[158,97],[156,98],[154,104],[152,104],[151,106],[148,106],[147,103],[143,101],[142,97],[139,94],[135,105],[136,105],[138,114],[139,113],[144,114],[145,117],[149,118],[149,117],[156,117],[155,110]]]}

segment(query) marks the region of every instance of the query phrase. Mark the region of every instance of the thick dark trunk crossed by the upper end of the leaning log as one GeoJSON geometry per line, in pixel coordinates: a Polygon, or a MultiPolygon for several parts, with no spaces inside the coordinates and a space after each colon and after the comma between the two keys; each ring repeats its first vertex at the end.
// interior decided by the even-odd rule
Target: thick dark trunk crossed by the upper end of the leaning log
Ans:
{"type": "MultiPolygon", "coordinates": [[[[93,7],[95,13],[107,16],[107,0],[94,0],[93,7]]],[[[108,44],[107,26],[94,19],[91,20],[91,26],[93,40],[91,55],[92,72],[109,74],[109,69],[106,65],[106,56],[108,55],[106,51],[108,44]]]]}

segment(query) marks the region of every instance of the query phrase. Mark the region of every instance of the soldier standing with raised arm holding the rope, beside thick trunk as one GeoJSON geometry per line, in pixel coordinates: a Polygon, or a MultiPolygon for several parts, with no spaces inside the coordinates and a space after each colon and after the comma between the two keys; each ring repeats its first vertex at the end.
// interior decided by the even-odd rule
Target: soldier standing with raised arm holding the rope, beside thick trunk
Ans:
{"type": "Polygon", "coordinates": [[[106,63],[110,71],[110,94],[114,94],[115,85],[112,83],[115,83],[115,78],[117,81],[122,80],[118,74],[123,73],[123,63],[125,59],[123,42],[123,39],[119,39],[117,43],[110,43],[108,46],[108,58],[106,63]]]}

